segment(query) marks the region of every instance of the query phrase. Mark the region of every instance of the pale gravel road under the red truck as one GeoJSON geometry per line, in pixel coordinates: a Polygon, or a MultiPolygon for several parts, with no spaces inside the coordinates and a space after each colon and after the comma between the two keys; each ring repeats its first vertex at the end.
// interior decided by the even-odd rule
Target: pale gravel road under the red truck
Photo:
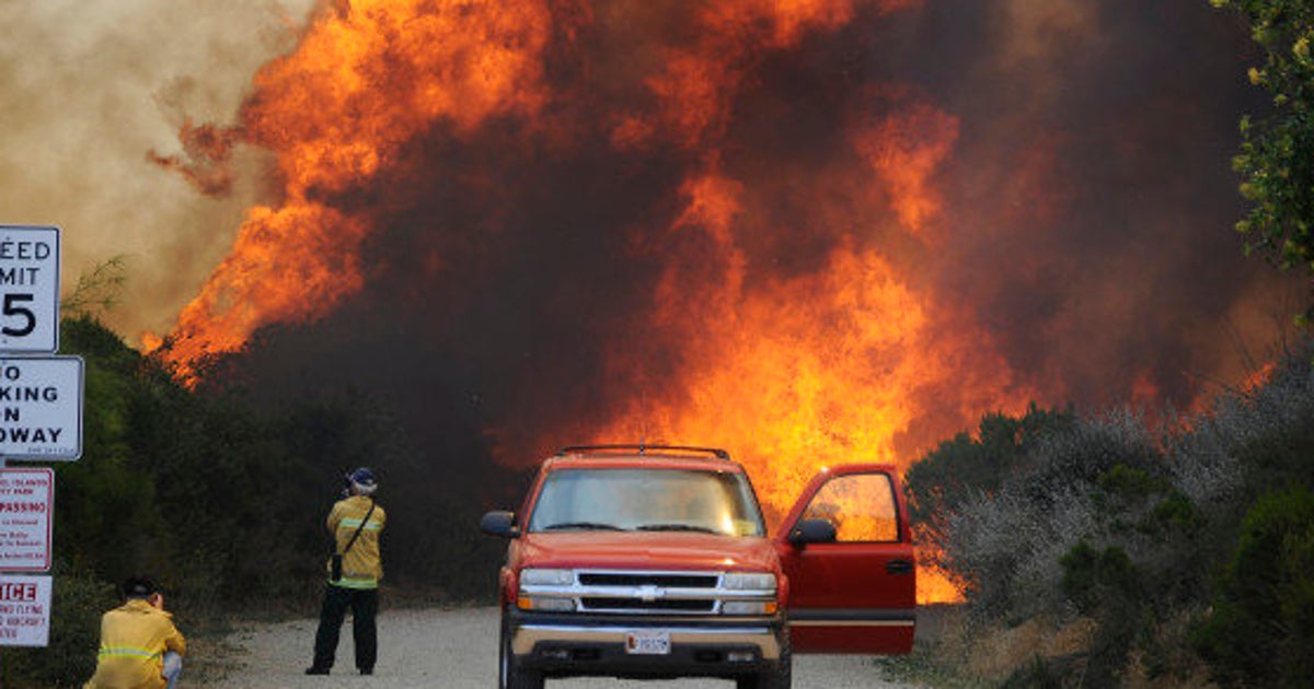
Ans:
{"type": "MultiPolygon", "coordinates": [[[[378,665],[373,677],[355,675],[351,663],[351,621],[343,626],[338,665],[328,677],[307,677],[315,621],[304,619],[240,630],[226,640],[235,668],[226,677],[213,673],[185,688],[213,689],[491,689],[497,686],[497,609],[385,610],[378,618],[378,665]]],[[[727,689],[723,680],[618,681],[611,679],[549,680],[549,689],[727,689]]],[[[798,656],[794,686],[886,686],[870,658],[798,656]]]]}

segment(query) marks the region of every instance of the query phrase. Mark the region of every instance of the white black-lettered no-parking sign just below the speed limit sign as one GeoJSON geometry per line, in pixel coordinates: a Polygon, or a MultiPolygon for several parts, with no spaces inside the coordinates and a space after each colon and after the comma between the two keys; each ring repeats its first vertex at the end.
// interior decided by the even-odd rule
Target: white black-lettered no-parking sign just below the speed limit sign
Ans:
{"type": "Polygon", "coordinates": [[[81,457],[81,357],[0,358],[0,458],[81,457]]]}

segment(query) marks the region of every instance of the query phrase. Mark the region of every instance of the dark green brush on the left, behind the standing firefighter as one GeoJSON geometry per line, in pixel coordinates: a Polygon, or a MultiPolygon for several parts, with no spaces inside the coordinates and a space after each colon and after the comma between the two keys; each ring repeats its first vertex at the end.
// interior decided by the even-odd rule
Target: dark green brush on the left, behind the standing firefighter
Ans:
{"type": "MultiPolygon", "coordinates": [[[[490,596],[501,543],[473,526],[486,505],[461,492],[460,476],[435,475],[382,402],[192,390],[87,316],[62,323],[60,353],[84,358],[85,402],[83,457],[46,465],[55,470],[50,646],[0,648],[0,685],[80,686],[100,614],[131,575],[159,581],[184,633],[235,616],[314,614],[323,520],[344,474],[363,465],[378,467],[382,504],[405,505],[384,535],[385,549],[407,545],[386,551],[385,601],[490,596]]],[[[523,479],[493,483],[518,490],[523,479]]]]}

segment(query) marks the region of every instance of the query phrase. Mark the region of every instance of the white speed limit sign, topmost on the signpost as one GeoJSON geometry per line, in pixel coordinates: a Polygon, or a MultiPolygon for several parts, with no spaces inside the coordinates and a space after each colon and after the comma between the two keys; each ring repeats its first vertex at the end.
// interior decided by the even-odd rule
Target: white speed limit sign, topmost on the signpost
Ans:
{"type": "Polygon", "coordinates": [[[0,224],[0,352],[59,349],[59,228],[0,224]]]}

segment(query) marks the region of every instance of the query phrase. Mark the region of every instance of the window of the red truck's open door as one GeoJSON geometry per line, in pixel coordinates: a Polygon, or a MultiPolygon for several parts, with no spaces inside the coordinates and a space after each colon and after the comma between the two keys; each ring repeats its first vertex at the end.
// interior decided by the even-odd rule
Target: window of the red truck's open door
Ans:
{"type": "Polygon", "coordinates": [[[827,482],[803,518],[834,524],[837,542],[899,541],[899,512],[887,474],[849,474],[827,482]]]}

